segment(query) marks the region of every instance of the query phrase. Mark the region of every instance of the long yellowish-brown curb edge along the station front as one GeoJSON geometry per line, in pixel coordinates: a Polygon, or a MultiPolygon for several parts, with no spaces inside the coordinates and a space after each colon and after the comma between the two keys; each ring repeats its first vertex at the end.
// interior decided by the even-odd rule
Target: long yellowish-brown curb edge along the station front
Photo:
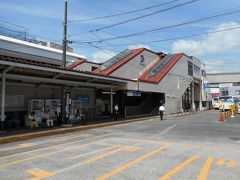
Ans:
{"type": "Polygon", "coordinates": [[[122,120],[122,121],[117,121],[117,122],[108,122],[108,123],[101,123],[101,124],[93,124],[93,125],[85,125],[85,126],[77,126],[77,127],[69,127],[69,128],[59,128],[59,129],[55,129],[55,130],[25,133],[25,134],[19,134],[19,135],[12,135],[12,136],[0,138],[0,144],[20,141],[20,140],[33,139],[33,138],[37,138],[37,137],[49,136],[49,135],[54,135],[54,134],[63,134],[63,133],[68,133],[68,132],[75,132],[75,131],[81,131],[81,130],[113,126],[113,125],[117,125],[117,124],[125,124],[125,123],[129,123],[129,122],[151,120],[156,117],[158,117],[158,116],[131,119],[131,120],[122,120]]]}

